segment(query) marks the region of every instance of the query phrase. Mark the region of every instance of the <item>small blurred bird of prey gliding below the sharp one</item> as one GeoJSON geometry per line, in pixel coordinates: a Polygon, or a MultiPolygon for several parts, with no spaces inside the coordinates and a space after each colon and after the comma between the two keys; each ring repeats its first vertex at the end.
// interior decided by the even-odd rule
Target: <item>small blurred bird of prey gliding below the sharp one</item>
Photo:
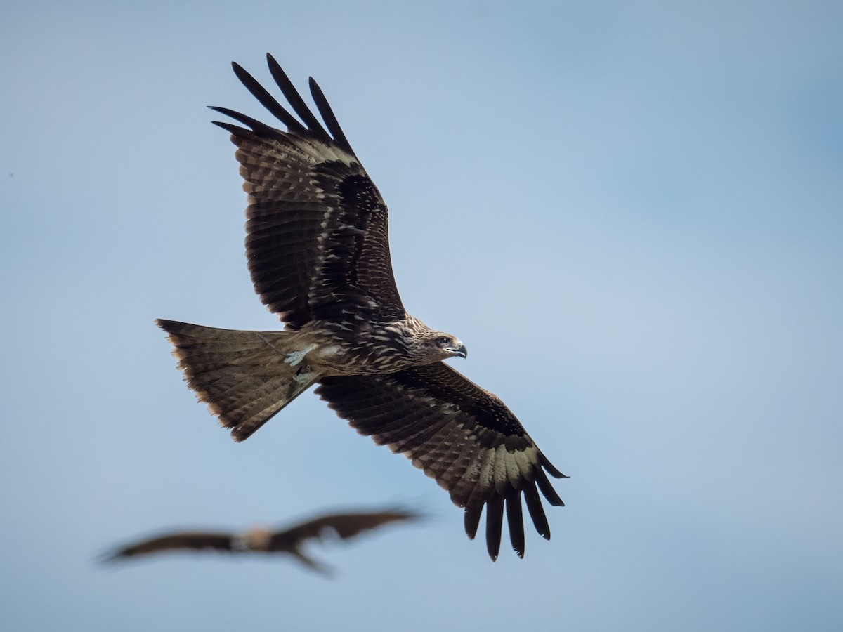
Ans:
{"type": "Polygon", "coordinates": [[[330,533],[340,539],[353,538],[358,533],[381,528],[390,522],[417,520],[419,514],[398,509],[360,513],[336,513],[316,517],[280,531],[263,527],[251,528],[243,533],[212,531],[175,531],[154,538],[128,544],[107,554],[103,561],[124,560],[137,555],[172,551],[216,550],[229,553],[286,553],[308,568],[328,574],[325,565],[304,554],[302,546],[308,540],[319,540],[330,533]]]}

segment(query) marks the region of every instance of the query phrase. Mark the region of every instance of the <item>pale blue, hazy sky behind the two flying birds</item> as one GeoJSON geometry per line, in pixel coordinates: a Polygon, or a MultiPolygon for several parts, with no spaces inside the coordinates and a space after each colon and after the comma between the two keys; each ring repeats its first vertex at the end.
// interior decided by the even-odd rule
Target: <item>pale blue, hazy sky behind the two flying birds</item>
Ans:
{"type": "Polygon", "coordinates": [[[0,628],[843,629],[843,5],[15,3],[0,11],[0,628]],[[231,72],[313,75],[405,305],[570,479],[497,563],[312,394],[237,445],[164,317],[275,329],[231,72]],[[405,503],[287,560],[94,558],[405,503]]]}

